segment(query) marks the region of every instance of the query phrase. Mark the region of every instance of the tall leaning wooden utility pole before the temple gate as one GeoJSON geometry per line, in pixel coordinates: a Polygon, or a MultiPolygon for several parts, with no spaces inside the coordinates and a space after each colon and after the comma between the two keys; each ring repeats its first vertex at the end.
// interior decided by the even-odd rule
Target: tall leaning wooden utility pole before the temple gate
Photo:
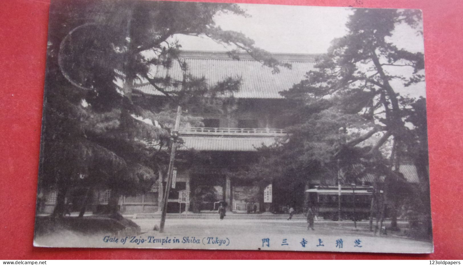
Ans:
{"type": "Polygon", "coordinates": [[[164,232],[164,223],[166,222],[167,204],[169,202],[170,186],[172,186],[172,175],[174,173],[175,151],[177,149],[178,130],[180,126],[181,107],[177,108],[177,117],[175,119],[174,131],[171,132],[172,147],[170,151],[169,169],[167,172],[167,183],[163,198],[163,211],[161,214],[161,223],[159,224],[159,233],[164,232]]]}

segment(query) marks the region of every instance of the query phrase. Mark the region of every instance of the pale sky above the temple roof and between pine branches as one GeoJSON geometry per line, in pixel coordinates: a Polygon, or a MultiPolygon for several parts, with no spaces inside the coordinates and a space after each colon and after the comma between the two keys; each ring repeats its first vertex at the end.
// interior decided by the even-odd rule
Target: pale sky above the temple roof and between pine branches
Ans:
{"type": "MultiPolygon", "coordinates": [[[[347,33],[345,26],[353,9],[346,7],[282,6],[239,4],[250,17],[220,14],[214,21],[224,30],[244,33],[255,46],[271,53],[326,53],[333,39],[347,33]]],[[[224,46],[206,37],[176,36],[185,50],[225,51],[224,46]]],[[[398,48],[424,53],[423,36],[407,25],[399,25],[388,38],[398,48]]],[[[400,68],[400,67],[397,67],[400,68]]],[[[402,67],[405,68],[405,67],[402,67]]],[[[391,74],[410,69],[391,69],[391,74]]],[[[425,97],[424,82],[410,87],[394,84],[401,95],[425,97]]]]}

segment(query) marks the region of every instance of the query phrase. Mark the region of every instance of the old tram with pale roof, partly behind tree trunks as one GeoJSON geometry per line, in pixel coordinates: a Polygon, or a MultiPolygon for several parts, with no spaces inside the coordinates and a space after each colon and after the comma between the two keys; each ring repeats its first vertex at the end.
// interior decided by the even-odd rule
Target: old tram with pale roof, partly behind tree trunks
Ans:
{"type": "Polygon", "coordinates": [[[341,218],[361,221],[369,218],[373,187],[343,185],[339,196],[338,186],[315,186],[306,195],[308,205],[325,220],[338,220],[341,199],[341,218]]]}

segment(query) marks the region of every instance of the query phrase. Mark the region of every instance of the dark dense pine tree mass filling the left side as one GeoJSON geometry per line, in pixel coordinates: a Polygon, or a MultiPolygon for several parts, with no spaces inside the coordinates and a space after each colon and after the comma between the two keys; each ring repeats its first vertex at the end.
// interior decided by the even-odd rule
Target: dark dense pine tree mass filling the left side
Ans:
{"type": "MultiPolygon", "coordinates": [[[[146,191],[166,170],[173,109],[210,107],[205,98],[239,89],[239,77],[208,85],[205,77],[190,75],[176,35],[209,37],[232,47],[232,58],[238,60],[243,50],[274,72],[290,67],[243,34],[216,26],[213,18],[222,12],[246,16],[235,4],[51,4],[39,188],[58,190],[55,216],[63,215],[72,187],[111,189],[108,209],[116,212],[119,195],[146,191]],[[173,64],[181,67],[181,78],[153,74],[173,64]],[[165,99],[154,104],[134,96],[133,85],[140,82],[152,84],[165,99]]],[[[182,122],[199,120],[185,115],[182,122]]]]}

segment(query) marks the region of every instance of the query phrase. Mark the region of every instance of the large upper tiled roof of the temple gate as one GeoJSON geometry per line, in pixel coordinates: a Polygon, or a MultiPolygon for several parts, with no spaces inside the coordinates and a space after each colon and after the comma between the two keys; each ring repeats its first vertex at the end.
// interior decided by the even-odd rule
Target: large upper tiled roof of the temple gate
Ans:
{"type": "MultiPolygon", "coordinates": [[[[280,67],[280,72],[273,74],[271,68],[251,60],[252,58],[245,54],[240,55],[240,60],[232,60],[225,53],[219,52],[190,51],[182,52],[181,55],[188,64],[189,72],[195,77],[205,76],[210,85],[227,77],[242,77],[240,90],[233,94],[237,98],[282,98],[278,92],[299,83],[306,72],[313,70],[316,56],[313,54],[274,54],[276,59],[291,63],[292,69],[280,67]]],[[[157,77],[163,77],[166,74],[178,80],[182,77],[178,64],[173,64],[170,69],[157,67],[157,77]]],[[[148,83],[138,84],[134,89],[148,95],[163,95],[148,83]]]]}

